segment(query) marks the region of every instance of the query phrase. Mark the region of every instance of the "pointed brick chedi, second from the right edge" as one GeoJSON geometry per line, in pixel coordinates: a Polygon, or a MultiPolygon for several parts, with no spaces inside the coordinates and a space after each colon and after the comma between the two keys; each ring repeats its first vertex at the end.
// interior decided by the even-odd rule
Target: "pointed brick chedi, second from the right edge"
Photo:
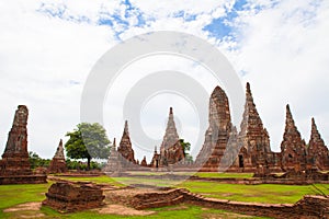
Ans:
{"type": "Polygon", "coordinates": [[[281,168],[283,171],[306,170],[306,145],[293,119],[290,105],[286,105],[286,119],[281,142],[281,168]]]}

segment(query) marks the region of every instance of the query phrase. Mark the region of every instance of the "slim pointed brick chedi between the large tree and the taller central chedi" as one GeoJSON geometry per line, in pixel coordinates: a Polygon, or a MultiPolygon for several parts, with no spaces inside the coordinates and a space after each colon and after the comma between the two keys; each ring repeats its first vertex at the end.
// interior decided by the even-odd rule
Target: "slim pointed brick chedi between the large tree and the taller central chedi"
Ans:
{"type": "Polygon", "coordinates": [[[134,157],[134,150],[132,148],[132,141],[129,137],[129,130],[128,130],[128,122],[125,122],[124,131],[120,141],[120,146],[117,148],[117,152],[126,160],[132,163],[136,163],[135,157],[134,157]]]}

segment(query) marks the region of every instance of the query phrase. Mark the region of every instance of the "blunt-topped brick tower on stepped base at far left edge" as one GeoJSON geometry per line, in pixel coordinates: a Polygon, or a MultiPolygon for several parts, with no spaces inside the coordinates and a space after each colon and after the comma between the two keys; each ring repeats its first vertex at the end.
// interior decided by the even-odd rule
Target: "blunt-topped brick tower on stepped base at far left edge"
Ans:
{"type": "Polygon", "coordinates": [[[46,175],[34,174],[31,170],[27,152],[27,107],[19,105],[0,160],[0,185],[46,183],[46,175]]]}

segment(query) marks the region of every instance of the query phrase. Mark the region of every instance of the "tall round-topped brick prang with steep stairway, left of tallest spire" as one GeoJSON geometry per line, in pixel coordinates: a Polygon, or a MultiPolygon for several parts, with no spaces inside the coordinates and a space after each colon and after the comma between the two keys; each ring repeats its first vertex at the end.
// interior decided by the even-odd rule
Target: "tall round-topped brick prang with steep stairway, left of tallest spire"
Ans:
{"type": "Polygon", "coordinates": [[[217,172],[232,128],[228,97],[219,87],[211,95],[208,123],[196,163],[202,165],[200,171],[217,172]]]}

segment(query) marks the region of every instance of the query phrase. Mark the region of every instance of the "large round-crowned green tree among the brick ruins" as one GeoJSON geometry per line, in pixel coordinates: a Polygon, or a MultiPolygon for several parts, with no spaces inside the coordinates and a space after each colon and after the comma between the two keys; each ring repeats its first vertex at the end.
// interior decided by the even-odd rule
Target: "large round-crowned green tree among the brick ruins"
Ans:
{"type": "Polygon", "coordinates": [[[92,158],[107,159],[110,143],[105,129],[98,123],[81,123],[73,131],[67,132],[69,140],[65,143],[67,157],[87,159],[88,170],[92,158]]]}

